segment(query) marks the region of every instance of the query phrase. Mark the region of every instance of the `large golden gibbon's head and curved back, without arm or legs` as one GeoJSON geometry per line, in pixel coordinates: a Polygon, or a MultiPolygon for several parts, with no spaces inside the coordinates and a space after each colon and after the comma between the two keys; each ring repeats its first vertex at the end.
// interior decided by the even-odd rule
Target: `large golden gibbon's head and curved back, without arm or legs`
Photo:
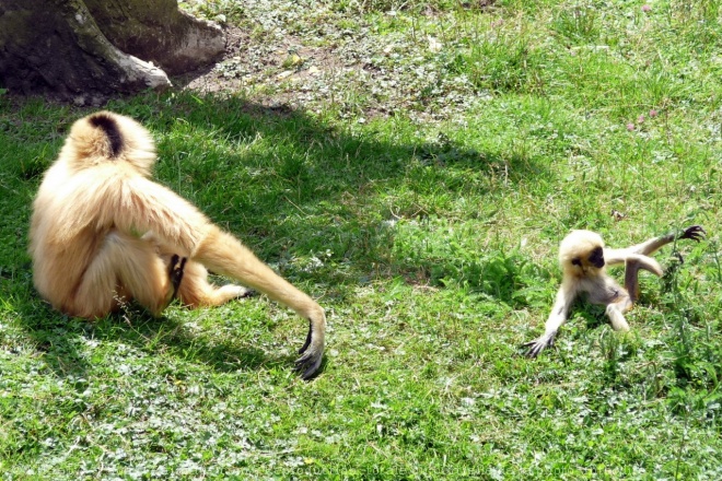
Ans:
{"type": "Polygon", "coordinates": [[[98,112],[72,125],[43,177],[30,231],[35,286],[57,308],[112,228],[124,180],[148,177],[154,162],[150,133],[128,117],[98,112]]]}

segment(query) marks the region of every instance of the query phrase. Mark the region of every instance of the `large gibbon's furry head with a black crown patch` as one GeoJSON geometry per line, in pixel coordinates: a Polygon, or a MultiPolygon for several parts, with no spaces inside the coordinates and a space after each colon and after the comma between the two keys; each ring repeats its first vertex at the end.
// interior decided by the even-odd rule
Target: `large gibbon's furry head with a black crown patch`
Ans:
{"type": "Polygon", "coordinates": [[[149,176],[155,163],[155,144],[150,132],[136,120],[103,110],[72,125],[59,159],[78,171],[106,162],[125,162],[149,176]]]}

